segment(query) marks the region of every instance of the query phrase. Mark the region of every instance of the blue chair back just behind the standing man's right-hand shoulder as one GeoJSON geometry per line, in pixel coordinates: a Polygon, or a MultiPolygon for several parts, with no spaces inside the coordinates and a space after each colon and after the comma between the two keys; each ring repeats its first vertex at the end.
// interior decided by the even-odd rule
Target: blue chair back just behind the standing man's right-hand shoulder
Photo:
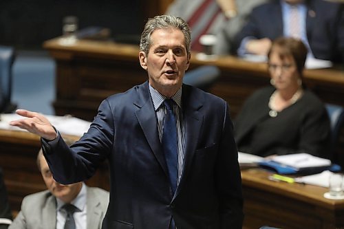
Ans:
{"type": "Polygon", "coordinates": [[[219,68],[213,65],[204,65],[191,69],[185,73],[183,83],[208,91],[219,78],[219,68]]]}

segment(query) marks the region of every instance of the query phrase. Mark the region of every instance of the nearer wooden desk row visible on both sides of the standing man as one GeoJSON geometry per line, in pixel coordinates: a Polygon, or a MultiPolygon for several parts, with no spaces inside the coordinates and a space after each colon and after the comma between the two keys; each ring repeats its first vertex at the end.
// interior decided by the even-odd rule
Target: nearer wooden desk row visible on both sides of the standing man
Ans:
{"type": "MultiPolygon", "coordinates": [[[[0,166],[14,212],[20,210],[25,195],[45,190],[36,168],[39,147],[36,135],[0,130],[0,166]]],[[[272,182],[268,180],[268,173],[259,169],[244,170],[241,175],[246,215],[244,228],[257,229],[263,225],[285,229],[344,227],[344,201],[323,198],[327,188],[272,182]]],[[[87,184],[109,190],[108,177],[104,165],[87,184]]]]}

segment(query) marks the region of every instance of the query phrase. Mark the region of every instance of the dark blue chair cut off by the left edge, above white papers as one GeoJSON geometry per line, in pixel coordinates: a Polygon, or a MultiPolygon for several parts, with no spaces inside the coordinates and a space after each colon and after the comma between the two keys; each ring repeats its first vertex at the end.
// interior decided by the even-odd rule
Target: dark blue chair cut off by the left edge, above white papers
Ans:
{"type": "Polygon", "coordinates": [[[17,105],[11,102],[13,47],[0,45],[0,113],[11,113],[17,105]]]}

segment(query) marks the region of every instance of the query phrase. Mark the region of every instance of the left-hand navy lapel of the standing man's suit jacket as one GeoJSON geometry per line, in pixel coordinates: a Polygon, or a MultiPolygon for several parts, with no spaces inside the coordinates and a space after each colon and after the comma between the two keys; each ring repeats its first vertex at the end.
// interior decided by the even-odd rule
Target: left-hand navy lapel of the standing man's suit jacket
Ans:
{"type": "Polygon", "coordinates": [[[162,167],[166,176],[168,176],[167,166],[164,159],[164,154],[162,153],[162,146],[160,143],[158,124],[156,120],[155,111],[153,109],[153,102],[151,101],[151,96],[149,95],[149,85],[145,83],[143,87],[138,89],[138,100],[134,102],[139,109],[136,111],[136,118],[142,128],[144,136],[158,160],[160,166],[162,167]]]}

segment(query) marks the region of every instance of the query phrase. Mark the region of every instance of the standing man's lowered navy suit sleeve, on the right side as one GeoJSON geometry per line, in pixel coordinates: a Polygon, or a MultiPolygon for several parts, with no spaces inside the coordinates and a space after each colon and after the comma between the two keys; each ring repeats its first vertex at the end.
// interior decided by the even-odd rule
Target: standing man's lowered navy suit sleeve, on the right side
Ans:
{"type": "Polygon", "coordinates": [[[221,228],[242,228],[244,219],[241,173],[237,160],[237,146],[233,136],[233,123],[226,104],[222,139],[217,158],[217,189],[221,228]]]}

